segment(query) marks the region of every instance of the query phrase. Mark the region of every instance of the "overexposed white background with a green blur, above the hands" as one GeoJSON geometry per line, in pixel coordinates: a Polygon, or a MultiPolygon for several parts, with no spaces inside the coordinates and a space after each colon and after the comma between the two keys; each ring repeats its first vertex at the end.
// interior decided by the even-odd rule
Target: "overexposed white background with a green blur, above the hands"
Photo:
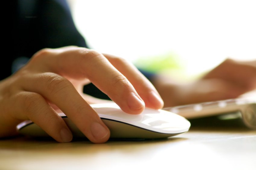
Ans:
{"type": "Polygon", "coordinates": [[[68,0],[77,29],[99,52],[177,81],[227,57],[256,59],[256,1],[68,0]]]}

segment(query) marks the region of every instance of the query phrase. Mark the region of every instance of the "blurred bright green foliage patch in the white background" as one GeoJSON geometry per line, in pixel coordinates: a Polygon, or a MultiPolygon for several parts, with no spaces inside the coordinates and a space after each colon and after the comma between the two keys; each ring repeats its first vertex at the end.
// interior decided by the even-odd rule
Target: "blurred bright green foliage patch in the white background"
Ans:
{"type": "Polygon", "coordinates": [[[174,52],[166,52],[153,56],[142,56],[139,57],[134,65],[142,70],[159,73],[163,70],[182,70],[184,68],[184,64],[178,54],[174,52]]]}

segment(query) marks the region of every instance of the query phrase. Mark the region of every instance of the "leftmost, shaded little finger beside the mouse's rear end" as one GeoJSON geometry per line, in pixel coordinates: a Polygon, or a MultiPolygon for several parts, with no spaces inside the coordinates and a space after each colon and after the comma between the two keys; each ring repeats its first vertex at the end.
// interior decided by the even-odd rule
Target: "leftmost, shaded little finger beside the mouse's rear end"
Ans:
{"type": "Polygon", "coordinates": [[[13,97],[15,103],[13,117],[20,120],[30,119],[58,142],[70,142],[72,133],[68,126],[37,93],[20,92],[13,97]]]}

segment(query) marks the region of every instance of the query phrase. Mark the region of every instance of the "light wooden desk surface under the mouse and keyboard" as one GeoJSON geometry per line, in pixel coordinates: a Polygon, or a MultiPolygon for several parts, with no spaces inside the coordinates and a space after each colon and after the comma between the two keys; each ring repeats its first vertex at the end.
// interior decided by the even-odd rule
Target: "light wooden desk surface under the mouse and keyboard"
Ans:
{"type": "Polygon", "coordinates": [[[191,128],[161,140],[0,140],[0,169],[256,169],[256,131],[191,128]]]}

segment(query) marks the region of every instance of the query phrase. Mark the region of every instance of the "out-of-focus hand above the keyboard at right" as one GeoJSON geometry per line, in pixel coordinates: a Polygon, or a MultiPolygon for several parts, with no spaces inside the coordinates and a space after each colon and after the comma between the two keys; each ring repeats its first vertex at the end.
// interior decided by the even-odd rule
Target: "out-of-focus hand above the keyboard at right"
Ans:
{"type": "Polygon", "coordinates": [[[227,59],[195,82],[179,84],[156,77],[153,85],[164,107],[236,98],[256,88],[256,60],[227,59]]]}

